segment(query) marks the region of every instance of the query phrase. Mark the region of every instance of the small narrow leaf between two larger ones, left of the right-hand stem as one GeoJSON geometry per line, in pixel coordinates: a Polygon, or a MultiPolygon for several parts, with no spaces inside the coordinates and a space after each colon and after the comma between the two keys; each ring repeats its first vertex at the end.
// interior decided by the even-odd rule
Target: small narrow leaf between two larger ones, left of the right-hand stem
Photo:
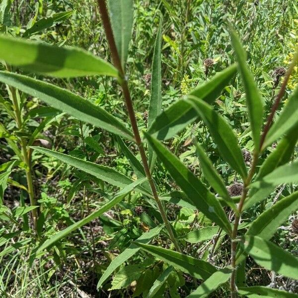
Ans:
{"type": "Polygon", "coordinates": [[[195,141],[197,156],[200,160],[200,166],[202,168],[203,174],[210,185],[218,192],[218,194],[226,201],[227,205],[230,206],[235,212],[237,212],[236,204],[233,202],[229,196],[226,187],[224,185],[224,180],[213,166],[212,161],[204,152],[204,149],[200,144],[195,141]]]}

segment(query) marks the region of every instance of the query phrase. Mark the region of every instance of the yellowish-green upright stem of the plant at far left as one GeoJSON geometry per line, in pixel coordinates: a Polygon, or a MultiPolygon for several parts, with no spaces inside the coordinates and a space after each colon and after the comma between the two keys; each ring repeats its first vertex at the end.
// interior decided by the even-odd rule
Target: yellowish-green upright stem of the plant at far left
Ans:
{"type": "MultiPolygon", "coordinates": [[[[5,66],[6,66],[7,71],[11,71],[10,67],[8,65],[5,65],[5,66]]],[[[22,131],[22,118],[21,118],[21,111],[19,109],[18,102],[17,102],[16,89],[11,86],[8,86],[8,88],[11,93],[11,99],[12,99],[13,110],[14,110],[17,128],[20,131],[22,131]]],[[[31,161],[29,158],[28,146],[27,146],[26,140],[23,137],[21,137],[20,139],[21,139],[20,146],[21,146],[21,151],[22,151],[22,155],[23,155],[23,162],[26,165],[25,172],[26,172],[27,190],[28,190],[30,205],[36,206],[37,203],[36,203],[35,195],[34,195],[32,173],[31,173],[31,161]]],[[[38,216],[37,209],[33,209],[31,211],[31,215],[32,215],[34,227],[36,228],[36,221],[37,221],[37,216],[38,216]]]]}

